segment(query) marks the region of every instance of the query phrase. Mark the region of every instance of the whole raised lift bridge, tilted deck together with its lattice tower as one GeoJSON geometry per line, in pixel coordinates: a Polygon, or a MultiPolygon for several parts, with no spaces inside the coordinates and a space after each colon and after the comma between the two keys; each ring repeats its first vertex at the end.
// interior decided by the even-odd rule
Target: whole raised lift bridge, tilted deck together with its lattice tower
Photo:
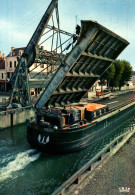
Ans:
{"type": "Polygon", "coordinates": [[[91,20],[82,20],[75,34],[61,30],[58,0],[52,0],[11,78],[9,105],[15,97],[22,106],[31,105],[29,75],[34,62],[45,64],[49,70],[46,75],[44,69],[38,73],[43,75],[40,84],[44,90],[36,102],[37,109],[79,102],[128,44],[91,20]]]}

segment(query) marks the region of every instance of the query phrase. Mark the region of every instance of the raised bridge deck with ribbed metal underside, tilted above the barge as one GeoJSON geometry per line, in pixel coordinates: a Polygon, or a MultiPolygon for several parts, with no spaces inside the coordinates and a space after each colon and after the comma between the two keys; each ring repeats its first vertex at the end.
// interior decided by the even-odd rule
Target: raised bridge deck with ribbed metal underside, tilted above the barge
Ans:
{"type": "Polygon", "coordinates": [[[52,77],[36,108],[79,102],[128,44],[97,22],[82,21],[79,40],[52,77]]]}

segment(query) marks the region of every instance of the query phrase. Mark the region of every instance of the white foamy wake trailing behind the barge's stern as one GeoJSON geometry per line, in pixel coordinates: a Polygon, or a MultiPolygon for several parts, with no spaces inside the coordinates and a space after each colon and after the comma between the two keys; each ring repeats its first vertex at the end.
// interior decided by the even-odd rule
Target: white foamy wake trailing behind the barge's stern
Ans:
{"type": "Polygon", "coordinates": [[[40,155],[41,153],[37,153],[34,149],[17,154],[15,160],[0,169],[0,182],[12,178],[13,173],[24,169],[29,163],[37,160],[40,155]]]}

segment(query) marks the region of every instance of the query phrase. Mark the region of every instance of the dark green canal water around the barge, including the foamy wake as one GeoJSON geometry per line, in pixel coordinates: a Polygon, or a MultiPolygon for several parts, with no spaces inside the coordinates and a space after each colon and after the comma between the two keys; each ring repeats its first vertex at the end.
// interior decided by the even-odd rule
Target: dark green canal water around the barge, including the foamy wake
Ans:
{"type": "Polygon", "coordinates": [[[32,149],[26,125],[0,131],[0,195],[51,194],[115,137],[133,130],[135,117],[80,152],[50,155],[32,149]]]}

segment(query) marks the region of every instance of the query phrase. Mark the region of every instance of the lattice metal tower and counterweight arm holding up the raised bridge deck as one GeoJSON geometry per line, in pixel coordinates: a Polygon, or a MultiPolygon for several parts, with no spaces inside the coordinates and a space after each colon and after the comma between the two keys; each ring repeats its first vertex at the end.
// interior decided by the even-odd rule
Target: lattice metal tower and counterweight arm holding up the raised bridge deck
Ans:
{"type": "Polygon", "coordinates": [[[64,52],[67,49],[67,46],[65,47],[65,45],[69,41],[72,41],[72,44],[70,45],[73,46],[75,39],[76,35],[60,29],[58,0],[52,0],[11,77],[13,91],[9,104],[11,105],[13,102],[17,102],[22,106],[31,105],[29,77],[33,79],[42,75],[44,81],[41,82],[40,87],[44,88],[44,83],[46,82],[48,74],[52,75],[52,73],[58,69],[65,57],[64,52]],[[52,20],[52,25],[48,24],[50,20],[52,20]],[[68,39],[66,38],[62,41],[61,34],[68,36],[68,39]],[[72,39],[74,39],[74,41],[72,41],[72,39]],[[49,43],[51,43],[51,48],[48,51],[44,50],[44,44],[47,41],[50,41],[49,43]],[[38,65],[29,71],[29,68],[33,63],[37,63],[38,65]],[[43,64],[45,64],[45,68],[33,76],[31,72],[43,64]],[[44,74],[44,71],[46,74],[44,74]]]}

